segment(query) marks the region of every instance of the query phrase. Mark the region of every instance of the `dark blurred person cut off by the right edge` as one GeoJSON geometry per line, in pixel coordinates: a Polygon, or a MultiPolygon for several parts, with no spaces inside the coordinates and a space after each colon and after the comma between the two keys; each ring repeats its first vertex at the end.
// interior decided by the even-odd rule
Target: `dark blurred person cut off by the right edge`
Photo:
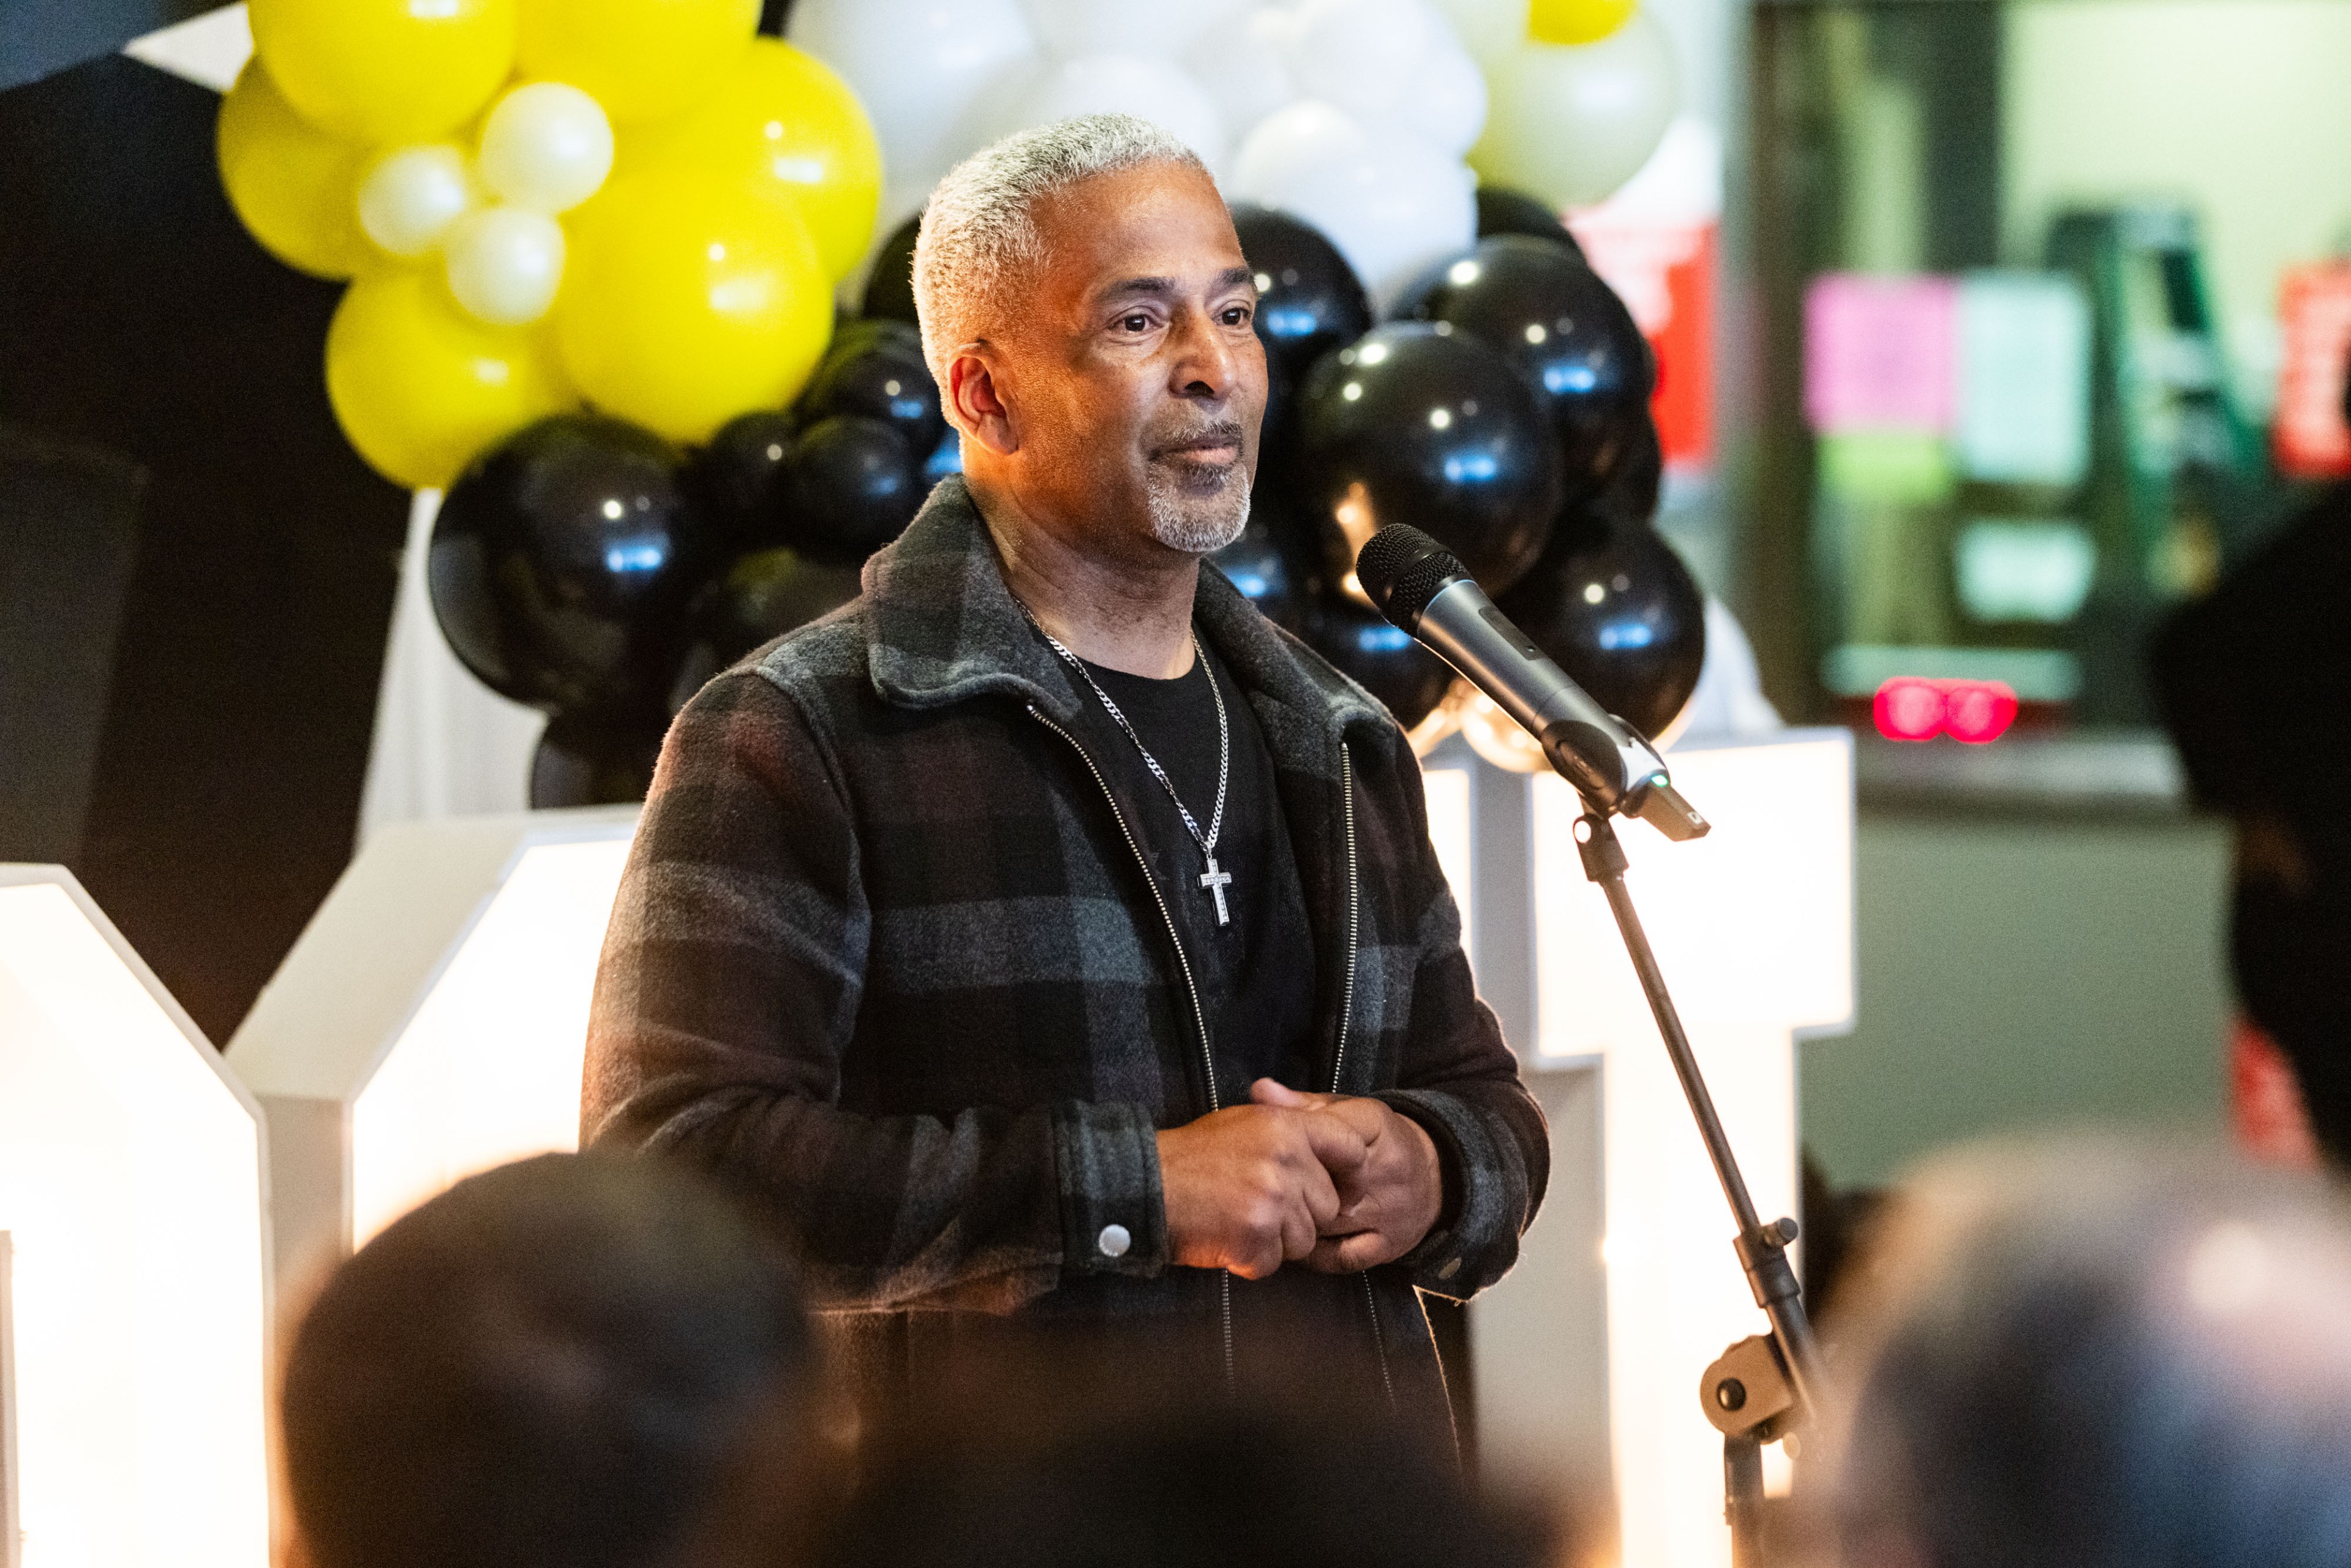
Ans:
{"type": "MultiPolygon", "coordinates": [[[[2346,400],[2351,402],[2351,400],[2346,400]]],[[[2351,407],[2346,407],[2351,414],[2351,407]]],[[[2236,823],[2238,1147],[2351,1168],[2351,484],[2323,491],[2151,654],[2193,797],[2236,823]]]]}

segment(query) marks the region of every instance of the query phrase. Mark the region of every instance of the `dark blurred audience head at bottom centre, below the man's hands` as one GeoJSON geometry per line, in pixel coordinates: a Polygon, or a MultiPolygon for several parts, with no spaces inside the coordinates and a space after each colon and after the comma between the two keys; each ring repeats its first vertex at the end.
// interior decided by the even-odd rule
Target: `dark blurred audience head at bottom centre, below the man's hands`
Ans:
{"type": "Polygon", "coordinates": [[[1474,1497],[1451,1455],[1312,1373],[1220,1399],[1121,1361],[1124,1373],[1067,1347],[1049,1366],[1009,1361],[994,1375],[1027,1399],[973,1385],[957,1410],[884,1434],[825,1568],[1559,1561],[1535,1514],[1474,1497]]]}

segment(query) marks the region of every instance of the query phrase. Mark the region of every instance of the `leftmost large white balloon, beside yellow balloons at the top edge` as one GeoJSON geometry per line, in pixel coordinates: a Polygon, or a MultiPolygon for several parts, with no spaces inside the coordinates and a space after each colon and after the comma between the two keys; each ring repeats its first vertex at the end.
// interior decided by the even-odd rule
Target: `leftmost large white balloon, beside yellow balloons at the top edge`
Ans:
{"type": "Polygon", "coordinates": [[[1020,0],[799,0],[790,38],[856,89],[889,179],[924,190],[978,150],[973,101],[1037,59],[1020,0]]]}

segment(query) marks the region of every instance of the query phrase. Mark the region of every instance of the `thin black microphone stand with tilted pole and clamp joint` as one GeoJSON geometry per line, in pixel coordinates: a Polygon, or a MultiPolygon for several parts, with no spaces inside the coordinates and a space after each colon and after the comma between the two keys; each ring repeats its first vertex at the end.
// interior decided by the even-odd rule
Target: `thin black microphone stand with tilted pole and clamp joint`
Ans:
{"type": "Polygon", "coordinates": [[[1585,813],[1575,820],[1575,849],[1585,863],[1585,877],[1608,896],[1617,933],[1632,969],[1641,976],[1648,994],[1648,1011],[1657,1018],[1657,1034],[1665,1037],[1665,1053],[1681,1079],[1681,1093],[1690,1103],[1697,1135],[1714,1161],[1714,1175],[1723,1185],[1723,1199],[1737,1220],[1740,1234],[1733,1241],[1740,1267],[1747,1272],[1747,1288],[1754,1291],[1756,1307],[1770,1321],[1770,1331],[1740,1340],[1726,1349],[1700,1382],[1700,1406],[1723,1434],[1723,1519],[1730,1523],[1733,1568],[1763,1568],[1763,1443],[1794,1432],[1813,1408],[1813,1392],[1820,1387],[1820,1347],[1813,1340],[1813,1321],[1803,1312],[1803,1295],[1796,1288],[1796,1272],[1787,1262],[1787,1244],[1796,1239],[1794,1220],[1756,1218],[1754,1197],[1740,1173],[1737,1154],[1723,1133],[1721,1117],[1714,1114],[1714,1095],[1697,1070],[1697,1053],[1681,1027],[1681,1013],[1665,987],[1657,954],[1650,952],[1641,914],[1625,891],[1625,846],[1608,823],[1608,811],[1585,797],[1585,813]]]}

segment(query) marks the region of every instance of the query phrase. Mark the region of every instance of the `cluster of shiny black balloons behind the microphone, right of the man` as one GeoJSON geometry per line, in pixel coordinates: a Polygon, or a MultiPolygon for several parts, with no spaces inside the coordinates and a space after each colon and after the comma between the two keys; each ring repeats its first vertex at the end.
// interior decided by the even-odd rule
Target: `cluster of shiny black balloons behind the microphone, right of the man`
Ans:
{"type": "Polygon", "coordinates": [[[1474,247],[1371,324],[1338,249],[1241,207],[1274,397],[1248,531],[1218,567],[1373,691],[1422,750],[1460,724],[1488,759],[1542,752],[1354,583],[1354,555],[1411,522],[1601,703],[1665,733],[1697,686],[1704,599],[1657,538],[1648,343],[1540,202],[1488,190],[1474,247]],[[1556,230],[1556,233],[1552,233],[1556,230]]]}

